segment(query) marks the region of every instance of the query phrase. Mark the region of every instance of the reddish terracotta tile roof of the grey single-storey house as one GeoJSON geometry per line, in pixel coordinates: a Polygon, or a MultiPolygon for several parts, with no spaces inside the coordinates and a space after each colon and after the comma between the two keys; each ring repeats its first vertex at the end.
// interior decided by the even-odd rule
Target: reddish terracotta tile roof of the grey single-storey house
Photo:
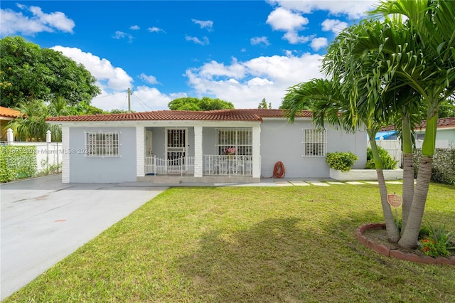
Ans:
{"type": "MultiPolygon", "coordinates": [[[[301,112],[298,117],[311,117],[310,111],[301,112]]],[[[154,112],[132,112],[127,114],[81,115],[48,117],[46,121],[82,122],[82,121],[262,121],[264,117],[285,117],[283,110],[210,110],[195,112],[189,110],[157,110],[154,112]]]]}

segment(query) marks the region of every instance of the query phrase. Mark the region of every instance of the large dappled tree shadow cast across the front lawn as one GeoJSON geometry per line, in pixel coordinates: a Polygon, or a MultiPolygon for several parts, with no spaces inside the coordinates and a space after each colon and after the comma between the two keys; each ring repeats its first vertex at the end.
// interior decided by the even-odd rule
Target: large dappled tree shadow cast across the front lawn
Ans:
{"type": "Polygon", "coordinates": [[[422,274],[421,265],[392,260],[358,243],[361,218],[377,216],[355,213],[320,225],[277,218],[233,233],[212,230],[176,268],[191,280],[187,294],[202,302],[383,302],[418,299],[419,287],[436,292],[442,278],[427,277],[429,285],[417,280],[405,289],[406,272],[422,274]]]}

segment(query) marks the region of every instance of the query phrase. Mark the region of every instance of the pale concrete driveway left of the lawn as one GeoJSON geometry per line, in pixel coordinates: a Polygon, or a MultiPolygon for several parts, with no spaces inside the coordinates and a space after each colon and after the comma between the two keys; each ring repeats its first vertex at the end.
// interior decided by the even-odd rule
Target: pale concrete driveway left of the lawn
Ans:
{"type": "Polygon", "coordinates": [[[5,299],[166,187],[62,184],[61,176],[1,184],[1,298],[5,299]]]}

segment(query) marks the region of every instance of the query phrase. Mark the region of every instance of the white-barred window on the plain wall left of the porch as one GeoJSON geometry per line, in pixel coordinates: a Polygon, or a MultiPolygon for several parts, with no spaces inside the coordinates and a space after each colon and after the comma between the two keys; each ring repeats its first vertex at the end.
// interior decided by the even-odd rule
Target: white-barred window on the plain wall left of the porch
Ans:
{"type": "Polygon", "coordinates": [[[119,132],[85,132],[85,156],[120,156],[119,132]]]}

